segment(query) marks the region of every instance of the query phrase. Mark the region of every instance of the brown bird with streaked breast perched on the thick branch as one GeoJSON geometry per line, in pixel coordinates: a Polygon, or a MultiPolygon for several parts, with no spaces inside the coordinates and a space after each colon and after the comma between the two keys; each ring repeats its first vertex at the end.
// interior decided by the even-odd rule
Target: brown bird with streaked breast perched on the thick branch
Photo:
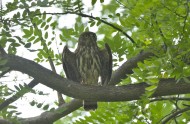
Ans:
{"type": "MultiPolygon", "coordinates": [[[[112,74],[112,54],[108,44],[100,50],[93,32],[84,32],[78,40],[78,47],[71,52],[64,47],[62,62],[68,79],[84,85],[106,85],[112,74]],[[99,78],[100,77],[100,78],[99,78]],[[100,82],[98,82],[100,80],[100,82]]],[[[85,110],[97,108],[97,102],[84,100],[85,110]]]]}

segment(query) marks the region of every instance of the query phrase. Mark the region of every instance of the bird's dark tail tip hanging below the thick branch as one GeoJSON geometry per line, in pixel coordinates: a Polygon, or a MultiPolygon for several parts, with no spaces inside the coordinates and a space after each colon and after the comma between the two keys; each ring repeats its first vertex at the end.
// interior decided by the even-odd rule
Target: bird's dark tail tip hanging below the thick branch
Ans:
{"type": "Polygon", "coordinates": [[[83,101],[83,107],[84,110],[89,111],[89,110],[96,110],[98,108],[97,102],[94,101],[83,101]]]}

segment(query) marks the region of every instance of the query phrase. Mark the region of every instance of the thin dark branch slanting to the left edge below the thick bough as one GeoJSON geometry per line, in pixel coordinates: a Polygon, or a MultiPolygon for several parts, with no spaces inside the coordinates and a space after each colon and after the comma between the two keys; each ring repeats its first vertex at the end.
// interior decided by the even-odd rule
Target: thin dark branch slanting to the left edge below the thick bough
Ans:
{"type": "MultiPolygon", "coordinates": [[[[24,89],[26,88],[33,88],[34,86],[36,86],[38,84],[38,82],[36,80],[32,80],[27,87],[24,87],[24,89]]],[[[20,97],[22,97],[24,94],[28,93],[29,91],[19,91],[17,92],[15,95],[13,95],[12,97],[8,98],[7,100],[5,100],[3,103],[0,104],[0,111],[7,107],[9,104],[13,103],[14,101],[16,101],[17,99],[19,99],[20,97]]]]}

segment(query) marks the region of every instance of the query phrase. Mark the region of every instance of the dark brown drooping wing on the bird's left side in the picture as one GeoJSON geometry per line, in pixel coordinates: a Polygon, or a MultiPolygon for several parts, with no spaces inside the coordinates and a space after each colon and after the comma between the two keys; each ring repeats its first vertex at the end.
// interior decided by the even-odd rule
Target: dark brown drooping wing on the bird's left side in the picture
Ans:
{"type": "Polygon", "coordinates": [[[63,49],[62,63],[67,78],[75,82],[80,82],[81,77],[77,69],[76,55],[67,46],[63,49]]]}

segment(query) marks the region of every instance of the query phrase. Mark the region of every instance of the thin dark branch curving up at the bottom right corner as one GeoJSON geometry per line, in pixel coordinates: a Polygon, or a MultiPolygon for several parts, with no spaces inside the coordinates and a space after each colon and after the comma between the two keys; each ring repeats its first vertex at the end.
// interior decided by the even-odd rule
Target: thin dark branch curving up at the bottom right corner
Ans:
{"type": "Polygon", "coordinates": [[[183,112],[186,112],[186,111],[189,111],[190,110],[190,107],[187,107],[187,108],[184,108],[184,109],[181,109],[181,110],[178,110],[176,112],[174,112],[173,114],[171,114],[170,116],[168,116],[166,119],[164,119],[162,121],[162,124],[166,124],[167,122],[169,122],[172,118],[175,118],[176,116],[182,114],[183,112]]]}

